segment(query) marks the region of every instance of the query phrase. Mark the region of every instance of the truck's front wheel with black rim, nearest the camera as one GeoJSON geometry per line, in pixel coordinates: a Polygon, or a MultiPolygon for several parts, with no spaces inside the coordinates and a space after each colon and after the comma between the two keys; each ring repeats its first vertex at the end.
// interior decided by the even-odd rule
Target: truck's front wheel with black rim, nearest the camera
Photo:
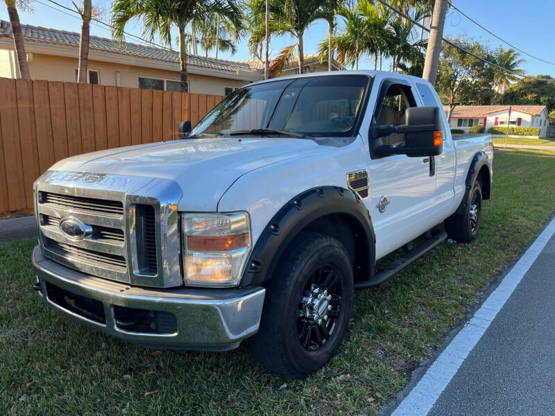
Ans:
{"type": "Polygon", "coordinates": [[[302,232],[266,284],[255,358],[268,369],[300,379],[323,367],[348,327],[353,276],[343,245],[331,236],[302,232]]]}

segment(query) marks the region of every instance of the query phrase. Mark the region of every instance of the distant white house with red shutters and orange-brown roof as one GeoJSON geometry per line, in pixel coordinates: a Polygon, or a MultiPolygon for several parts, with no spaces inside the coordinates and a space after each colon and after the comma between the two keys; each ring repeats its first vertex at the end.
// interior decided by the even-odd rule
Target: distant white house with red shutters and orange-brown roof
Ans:
{"type": "MultiPolygon", "coordinates": [[[[449,107],[444,107],[445,113],[449,107]]],[[[472,125],[483,125],[486,130],[495,125],[507,125],[509,105],[457,105],[452,114],[450,128],[468,132],[472,125]]],[[[540,137],[547,136],[549,112],[545,105],[511,105],[510,125],[516,127],[539,127],[540,137]]]]}

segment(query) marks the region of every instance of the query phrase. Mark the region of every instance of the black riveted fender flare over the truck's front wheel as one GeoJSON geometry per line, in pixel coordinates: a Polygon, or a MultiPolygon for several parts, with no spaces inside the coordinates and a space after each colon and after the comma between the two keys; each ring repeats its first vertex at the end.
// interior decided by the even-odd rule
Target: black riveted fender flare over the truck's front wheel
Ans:
{"type": "Polygon", "coordinates": [[[250,254],[239,286],[260,284],[271,279],[283,252],[298,233],[318,218],[341,214],[356,223],[357,256],[354,269],[364,279],[374,275],[375,234],[368,209],[355,193],[341,187],[317,187],[300,193],[287,202],[268,222],[250,254]]]}

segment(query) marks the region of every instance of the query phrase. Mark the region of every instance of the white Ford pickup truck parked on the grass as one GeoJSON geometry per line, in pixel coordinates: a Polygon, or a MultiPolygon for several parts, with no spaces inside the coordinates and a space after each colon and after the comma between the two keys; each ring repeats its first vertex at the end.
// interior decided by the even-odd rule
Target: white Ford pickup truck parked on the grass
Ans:
{"type": "Polygon", "coordinates": [[[253,83],[190,125],[179,141],[62,160],[35,182],[34,288],[47,304],[148,347],[248,339],[263,365],[304,377],[339,349],[355,288],[447,236],[472,241],[490,198],[490,136],[452,139],[434,88],[412,76],[253,83]]]}

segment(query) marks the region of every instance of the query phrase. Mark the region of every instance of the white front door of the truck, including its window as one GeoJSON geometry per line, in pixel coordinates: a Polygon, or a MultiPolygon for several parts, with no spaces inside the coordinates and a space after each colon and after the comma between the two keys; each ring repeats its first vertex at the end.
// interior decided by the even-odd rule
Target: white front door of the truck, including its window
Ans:
{"type": "MultiPolygon", "coordinates": [[[[379,87],[372,123],[402,125],[408,107],[416,107],[420,97],[402,80],[384,80],[379,87]]],[[[370,132],[372,128],[370,128],[370,132]]],[[[404,134],[386,137],[369,135],[366,204],[376,234],[376,258],[415,239],[437,223],[434,217],[435,175],[429,157],[390,155],[380,157],[377,147],[402,143],[404,134]],[[435,221],[435,223],[434,223],[435,221]]]]}

